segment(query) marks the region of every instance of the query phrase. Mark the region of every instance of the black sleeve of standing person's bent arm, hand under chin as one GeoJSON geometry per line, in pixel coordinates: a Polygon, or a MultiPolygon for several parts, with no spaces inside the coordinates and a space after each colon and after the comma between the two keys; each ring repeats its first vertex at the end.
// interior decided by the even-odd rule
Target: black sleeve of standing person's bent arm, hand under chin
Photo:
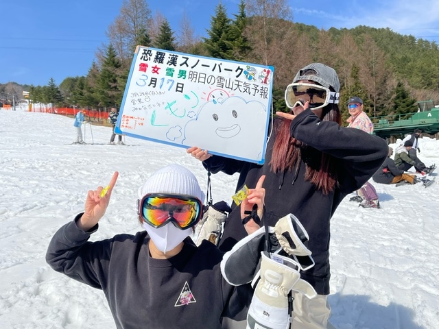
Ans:
{"type": "Polygon", "coordinates": [[[388,155],[388,145],[383,138],[340,127],[332,121],[321,121],[309,109],[292,120],[290,132],[299,141],[339,159],[348,176],[344,180],[355,181],[357,188],[372,177],[388,155]]]}

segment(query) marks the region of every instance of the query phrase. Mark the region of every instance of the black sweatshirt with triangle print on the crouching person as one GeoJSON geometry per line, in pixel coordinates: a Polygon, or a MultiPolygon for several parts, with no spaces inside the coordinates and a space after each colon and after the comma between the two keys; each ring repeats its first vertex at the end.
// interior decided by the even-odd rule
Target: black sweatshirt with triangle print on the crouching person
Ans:
{"type": "Polygon", "coordinates": [[[116,328],[220,329],[222,317],[245,319],[248,300],[241,303],[222,278],[223,254],[213,243],[197,247],[187,238],[176,256],[156,259],[145,231],[89,242],[98,226],[84,232],[76,225],[80,216],[56,232],[46,260],[54,270],[102,289],[116,328]]]}

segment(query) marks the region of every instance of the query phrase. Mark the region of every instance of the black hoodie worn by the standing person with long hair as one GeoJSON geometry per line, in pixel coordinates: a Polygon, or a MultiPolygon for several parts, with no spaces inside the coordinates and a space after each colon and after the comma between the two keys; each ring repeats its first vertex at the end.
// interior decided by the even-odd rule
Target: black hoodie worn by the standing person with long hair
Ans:
{"type": "MultiPolygon", "coordinates": [[[[377,171],[388,155],[388,145],[380,137],[359,129],[340,127],[331,121],[321,121],[311,110],[298,114],[292,121],[291,135],[309,145],[302,149],[302,162],[296,171],[273,173],[270,171],[272,148],[276,138],[276,127],[282,118],[274,120],[274,129],[267,145],[265,164],[258,165],[235,159],[212,156],[203,162],[212,173],[222,171],[232,175],[240,173],[237,191],[246,184],[254,188],[261,175],[266,175],[264,220],[274,226],[278,219],[294,214],[309,234],[307,247],[311,250],[316,265],[301,276],[320,295],[329,294],[329,238],[330,219],[342,199],[359,189],[377,171]],[[330,154],[337,160],[338,186],[329,195],[316,190],[305,180],[305,161],[320,164],[320,152],[330,154]]],[[[212,184],[215,184],[214,178],[212,184]]],[[[241,224],[239,207],[228,216],[219,249],[230,250],[246,236],[241,224]]]]}

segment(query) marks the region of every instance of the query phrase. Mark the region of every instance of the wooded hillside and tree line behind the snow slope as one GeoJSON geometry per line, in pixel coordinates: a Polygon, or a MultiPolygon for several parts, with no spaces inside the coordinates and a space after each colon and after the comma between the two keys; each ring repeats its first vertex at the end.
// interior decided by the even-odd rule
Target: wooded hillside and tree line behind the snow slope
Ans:
{"type": "Polygon", "coordinates": [[[294,23],[285,0],[241,0],[230,18],[220,2],[207,36],[194,36],[185,14],[178,33],[147,1],[124,0],[108,27],[110,42],[99,49],[85,76],[67,77],[56,86],[31,86],[33,102],[89,109],[119,107],[137,45],[200,56],[274,66],[274,111],[287,110],[287,84],[311,62],[332,66],[340,77],[340,106],[359,96],[370,117],[418,110],[416,101],[439,102],[439,51],[436,42],[405,36],[388,28],[318,29],[294,23]]]}

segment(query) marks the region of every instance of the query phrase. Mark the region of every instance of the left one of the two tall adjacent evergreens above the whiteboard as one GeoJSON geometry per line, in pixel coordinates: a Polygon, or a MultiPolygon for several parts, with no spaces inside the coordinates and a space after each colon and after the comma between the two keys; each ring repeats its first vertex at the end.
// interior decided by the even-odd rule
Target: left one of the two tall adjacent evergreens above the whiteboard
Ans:
{"type": "Polygon", "coordinates": [[[230,37],[230,19],[227,17],[226,8],[219,3],[215,8],[215,16],[211,17],[211,29],[207,31],[209,38],[203,38],[209,56],[213,58],[233,59],[232,40],[230,37]]]}

